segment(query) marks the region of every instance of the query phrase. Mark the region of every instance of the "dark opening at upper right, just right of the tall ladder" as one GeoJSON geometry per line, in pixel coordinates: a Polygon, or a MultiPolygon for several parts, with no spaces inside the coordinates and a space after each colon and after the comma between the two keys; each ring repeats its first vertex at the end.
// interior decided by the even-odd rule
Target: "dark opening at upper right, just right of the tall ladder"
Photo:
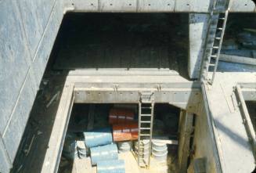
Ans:
{"type": "MultiPolygon", "coordinates": [[[[218,71],[254,72],[256,68],[256,14],[229,13],[218,71]]],[[[212,70],[210,68],[210,70],[212,70]]]]}

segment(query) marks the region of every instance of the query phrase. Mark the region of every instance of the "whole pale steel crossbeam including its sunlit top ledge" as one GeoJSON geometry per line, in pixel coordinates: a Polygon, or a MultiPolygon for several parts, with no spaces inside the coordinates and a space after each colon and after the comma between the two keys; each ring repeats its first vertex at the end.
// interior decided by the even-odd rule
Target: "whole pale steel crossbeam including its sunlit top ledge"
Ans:
{"type": "MultiPolygon", "coordinates": [[[[87,70],[71,73],[67,81],[74,83],[74,103],[139,103],[142,91],[151,91],[155,103],[170,103],[197,113],[200,82],[187,81],[176,75],[133,74],[119,71],[111,77],[88,75],[87,70]],[[79,74],[79,75],[78,75],[79,74]],[[84,74],[84,75],[82,75],[84,74]]],[[[90,74],[90,73],[89,73],[90,74]]]]}

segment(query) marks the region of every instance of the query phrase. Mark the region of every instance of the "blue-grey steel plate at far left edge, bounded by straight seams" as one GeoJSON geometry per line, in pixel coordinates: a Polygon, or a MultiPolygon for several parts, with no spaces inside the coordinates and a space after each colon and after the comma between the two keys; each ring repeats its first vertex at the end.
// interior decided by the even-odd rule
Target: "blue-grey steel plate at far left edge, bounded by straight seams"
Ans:
{"type": "Polygon", "coordinates": [[[1,2],[0,22],[0,132],[3,135],[26,79],[31,55],[16,2],[1,2]]]}

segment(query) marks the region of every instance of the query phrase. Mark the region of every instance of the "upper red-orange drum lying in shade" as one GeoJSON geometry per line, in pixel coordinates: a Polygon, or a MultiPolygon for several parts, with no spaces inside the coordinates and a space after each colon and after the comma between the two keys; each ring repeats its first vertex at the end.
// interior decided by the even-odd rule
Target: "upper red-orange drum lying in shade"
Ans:
{"type": "Polygon", "coordinates": [[[122,124],[134,120],[134,112],[128,109],[113,108],[110,110],[109,123],[122,124]]]}

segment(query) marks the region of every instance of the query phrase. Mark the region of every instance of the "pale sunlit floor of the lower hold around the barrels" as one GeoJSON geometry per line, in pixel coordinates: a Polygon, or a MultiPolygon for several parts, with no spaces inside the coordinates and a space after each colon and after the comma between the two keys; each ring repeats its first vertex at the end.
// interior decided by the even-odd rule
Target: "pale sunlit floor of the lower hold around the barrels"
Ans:
{"type": "MultiPolygon", "coordinates": [[[[157,160],[151,158],[150,169],[139,168],[137,161],[132,152],[125,152],[118,154],[119,159],[124,160],[125,163],[125,173],[171,173],[175,172],[176,157],[169,154],[168,155],[168,170],[166,165],[160,164],[157,160]]],[[[59,168],[59,173],[96,173],[96,167],[92,167],[90,157],[84,159],[76,158],[73,161],[63,161],[63,165],[59,168]]]]}

